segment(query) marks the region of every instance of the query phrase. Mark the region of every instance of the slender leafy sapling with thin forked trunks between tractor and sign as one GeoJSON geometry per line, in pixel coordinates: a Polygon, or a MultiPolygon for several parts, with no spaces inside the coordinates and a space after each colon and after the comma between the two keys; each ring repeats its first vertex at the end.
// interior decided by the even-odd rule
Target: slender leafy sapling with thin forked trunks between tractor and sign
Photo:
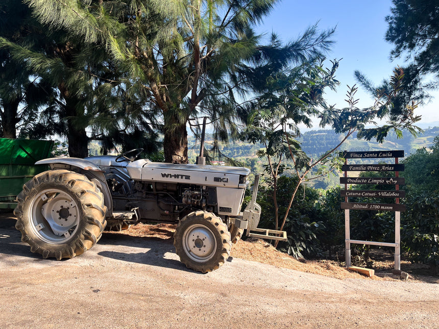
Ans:
{"type": "Polygon", "coordinates": [[[420,117],[414,116],[410,106],[403,113],[398,115],[393,113],[392,99],[400,91],[404,76],[402,69],[394,70],[389,79],[391,88],[376,90],[375,102],[372,106],[358,108],[358,99],[355,99],[357,87],[348,86],[346,99],[348,106],[337,109],[335,106],[328,106],[323,97],[325,88],[334,89],[338,85],[338,81],[334,78],[338,61],[334,60],[331,63],[332,67],[329,69],[324,69],[322,63],[318,61],[305,63],[290,69],[282,77],[272,77],[272,80],[267,81],[267,92],[258,97],[257,101],[249,104],[252,110],[245,138],[265,145],[265,149],[260,151],[259,155],[266,156],[269,162],[267,171],[273,187],[274,222],[277,230],[284,228],[300,186],[337,168],[341,164],[337,150],[354,133],[358,138],[382,142],[391,130],[398,134],[403,129],[408,129],[413,134],[421,131],[413,125],[420,120],[420,117]],[[298,124],[304,123],[310,126],[310,116],[320,119],[321,128],[329,125],[335,133],[343,136],[337,145],[314,159],[304,153],[297,141],[300,136],[298,124]],[[375,122],[377,119],[386,118],[391,119],[385,124],[379,125],[375,122]],[[374,128],[367,128],[370,124],[375,125],[374,128]],[[285,160],[290,160],[292,163],[290,171],[297,176],[297,184],[290,192],[289,203],[283,210],[283,218],[280,219],[276,184],[278,176],[285,169],[285,160]],[[315,171],[319,166],[320,170],[315,171]]]}

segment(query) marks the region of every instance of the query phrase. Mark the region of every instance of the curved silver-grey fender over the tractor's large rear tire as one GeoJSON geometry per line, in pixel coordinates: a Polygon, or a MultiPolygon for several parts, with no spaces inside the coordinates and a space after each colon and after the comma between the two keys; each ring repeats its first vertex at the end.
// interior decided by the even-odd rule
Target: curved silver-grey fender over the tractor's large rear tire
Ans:
{"type": "Polygon", "coordinates": [[[49,165],[52,170],[67,169],[86,175],[87,178],[94,182],[104,194],[104,203],[107,206],[106,217],[113,214],[113,199],[111,197],[110,189],[105,180],[104,171],[96,166],[93,162],[80,158],[48,158],[35,162],[35,164],[49,165]]]}

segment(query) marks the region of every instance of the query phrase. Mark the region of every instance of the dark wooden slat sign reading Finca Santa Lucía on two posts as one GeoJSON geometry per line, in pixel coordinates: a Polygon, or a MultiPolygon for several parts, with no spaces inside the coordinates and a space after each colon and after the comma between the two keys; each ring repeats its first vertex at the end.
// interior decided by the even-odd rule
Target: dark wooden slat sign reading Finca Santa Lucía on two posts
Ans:
{"type": "Polygon", "coordinates": [[[405,191],[400,191],[399,186],[404,185],[404,178],[399,177],[399,171],[404,170],[404,165],[398,163],[399,158],[404,157],[403,150],[393,151],[359,151],[348,152],[343,154],[345,164],[342,170],[345,172],[344,177],[340,177],[340,184],[345,185],[345,190],[341,191],[341,195],[345,197],[345,202],[342,202],[341,208],[345,209],[345,259],[346,267],[351,266],[351,243],[380,245],[395,247],[395,269],[401,269],[401,238],[400,238],[400,221],[401,211],[405,211],[405,206],[400,205],[400,198],[405,196],[405,191]],[[348,159],[381,159],[381,158],[395,158],[395,164],[348,164],[348,159]],[[348,177],[348,171],[395,171],[395,177],[348,177]],[[371,184],[371,185],[385,185],[395,186],[393,190],[348,190],[348,184],[371,184]],[[381,203],[359,203],[349,202],[349,197],[379,197],[379,198],[394,198],[395,204],[381,204],[381,203]],[[395,212],[395,243],[376,242],[376,241],[360,241],[351,240],[350,235],[350,210],[373,210],[373,211],[394,211],[395,212]]]}

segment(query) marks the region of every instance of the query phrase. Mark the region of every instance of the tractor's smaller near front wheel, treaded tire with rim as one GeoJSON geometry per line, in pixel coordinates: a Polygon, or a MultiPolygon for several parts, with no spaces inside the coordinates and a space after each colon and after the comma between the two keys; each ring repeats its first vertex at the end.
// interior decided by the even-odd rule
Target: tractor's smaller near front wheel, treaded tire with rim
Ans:
{"type": "Polygon", "coordinates": [[[207,273],[226,262],[232,243],[227,225],[221,218],[196,211],[178,223],[174,246],[180,261],[187,268],[207,273]]]}

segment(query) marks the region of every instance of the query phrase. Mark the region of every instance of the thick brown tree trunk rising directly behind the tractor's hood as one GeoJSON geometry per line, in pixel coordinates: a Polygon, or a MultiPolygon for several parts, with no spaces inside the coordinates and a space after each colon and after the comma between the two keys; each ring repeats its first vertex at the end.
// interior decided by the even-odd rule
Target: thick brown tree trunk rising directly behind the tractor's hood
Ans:
{"type": "Polygon", "coordinates": [[[187,131],[186,125],[180,124],[175,129],[164,131],[165,162],[187,163],[187,131]]]}

